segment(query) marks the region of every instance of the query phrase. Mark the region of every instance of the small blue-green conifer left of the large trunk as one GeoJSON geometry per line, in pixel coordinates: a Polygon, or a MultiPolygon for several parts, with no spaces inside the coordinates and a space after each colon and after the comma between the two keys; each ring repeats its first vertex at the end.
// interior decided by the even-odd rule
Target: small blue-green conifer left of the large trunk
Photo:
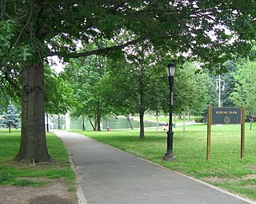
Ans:
{"type": "Polygon", "coordinates": [[[6,112],[3,112],[3,118],[4,118],[3,124],[7,128],[9,128],[9,132],[11,127],[18,128],[19,126],[18,116],[19,114],[17,112],[17,108],[15,108],[15,106],[10,102],[6,112]]]}

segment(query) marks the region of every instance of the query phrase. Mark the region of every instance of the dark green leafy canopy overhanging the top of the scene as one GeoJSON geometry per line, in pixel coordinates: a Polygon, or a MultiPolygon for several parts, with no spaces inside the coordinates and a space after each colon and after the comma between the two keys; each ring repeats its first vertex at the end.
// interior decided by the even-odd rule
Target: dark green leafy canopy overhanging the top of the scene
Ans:
{"type": "Polygon", "coordinates": [[[1,38],[10,42],[11,50],[20,50],[22,60],[38,51],[45,57],[106,53],[148,39],[174,57],[186,53],[216,61],[223,52],[230,57],[250,49],[254,14],[253,1],[246,6],[242,1],[13,1],[2,10],[2,27],[8,32],[1,38]],[[130,37],[114,41],[124,30],[130,37]],[[78,52],[78,44],[99,39],[110,43],[104,49],[78,52]]]}

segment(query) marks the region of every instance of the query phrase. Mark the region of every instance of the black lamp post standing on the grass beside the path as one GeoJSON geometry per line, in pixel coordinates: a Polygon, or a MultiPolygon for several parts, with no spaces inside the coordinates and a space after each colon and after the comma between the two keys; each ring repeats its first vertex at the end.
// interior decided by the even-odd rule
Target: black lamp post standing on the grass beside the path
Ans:
{"type": "Polygon", "coordinates": [[[173,101],[174,101],[174,73],[175,73],[175,65],[169,63],[166,66],[167,76],[169,79],[170,86],[170,115],[169,115],[169,131],[167,131],[167,153],[163,156],[163,160],[174,160],[173,154],[173,140],[174,140],[174,131],[173,131],[173,101]]]}

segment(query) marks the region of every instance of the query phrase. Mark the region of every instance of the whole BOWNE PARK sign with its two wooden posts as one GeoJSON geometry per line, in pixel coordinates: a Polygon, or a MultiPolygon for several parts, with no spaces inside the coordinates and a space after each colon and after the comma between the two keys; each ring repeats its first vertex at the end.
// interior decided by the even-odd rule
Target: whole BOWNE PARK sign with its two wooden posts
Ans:
{"type": "Polygon", "coordinates": [[[206,160],[210,160],[211,124],[241,124],[241,159],[243,159],[245,155],[245,108],[213,108],[209,106],[207,119],[206,160]]]}

